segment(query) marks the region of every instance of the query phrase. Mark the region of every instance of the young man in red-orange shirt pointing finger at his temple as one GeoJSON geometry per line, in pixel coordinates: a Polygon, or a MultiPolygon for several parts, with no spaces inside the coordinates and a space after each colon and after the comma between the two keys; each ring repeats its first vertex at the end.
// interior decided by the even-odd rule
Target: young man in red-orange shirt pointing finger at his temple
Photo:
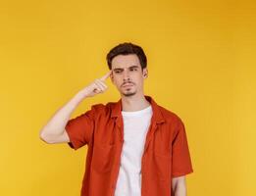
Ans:
{"type": "Polygon", "coordinates": [[[193,172],[184,125],[173,112],[144,95],[147,59],[138,45],[122,43],[107,55],[110,69],[81,89],[40,131],[47,143],[88,145],[81,196],[185,196],[193,172]],[[110,76],[118,102],[95,104],[70,116],[87,97],[103,93],[110,76]]]}

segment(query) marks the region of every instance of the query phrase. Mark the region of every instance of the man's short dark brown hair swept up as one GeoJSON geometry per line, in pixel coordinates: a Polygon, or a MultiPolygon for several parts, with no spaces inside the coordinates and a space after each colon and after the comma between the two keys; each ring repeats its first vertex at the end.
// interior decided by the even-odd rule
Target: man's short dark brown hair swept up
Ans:
{"type": "Polygon", "coordinates": [[[124,42],[112,48],[107,54],[106,58],[107,58],[109,70],[112,69],[112,59],[114,57],[118,55],[128,55],[128,54],[137,55],[140,62],[141,70],[147,67],[147,58],[143,49],[136,44],[133,44],[130,42],[124,42]]]}

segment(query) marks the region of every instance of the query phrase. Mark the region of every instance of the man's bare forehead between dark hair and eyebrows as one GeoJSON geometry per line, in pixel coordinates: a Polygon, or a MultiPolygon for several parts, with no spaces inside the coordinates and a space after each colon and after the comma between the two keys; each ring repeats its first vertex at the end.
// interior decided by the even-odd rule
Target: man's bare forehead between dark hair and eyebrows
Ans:
{"type": "Polygon", "coordinates": [[[139,59],[135,54],[118,55],[112,59],[112,69],[140,66],[139,59]]]}

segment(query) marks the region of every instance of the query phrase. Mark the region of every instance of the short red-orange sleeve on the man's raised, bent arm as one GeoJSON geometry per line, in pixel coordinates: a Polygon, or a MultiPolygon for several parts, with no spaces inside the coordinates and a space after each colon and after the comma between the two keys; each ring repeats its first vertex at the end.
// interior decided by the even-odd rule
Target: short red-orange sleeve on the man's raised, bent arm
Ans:
{"type": "Polygon", "coordinates": [[[95,111],[93,106],[89,111],[69,120],[65,128],[70,137],[69,146],[75,150],[88,144],[94,131],[95,111]]]}

